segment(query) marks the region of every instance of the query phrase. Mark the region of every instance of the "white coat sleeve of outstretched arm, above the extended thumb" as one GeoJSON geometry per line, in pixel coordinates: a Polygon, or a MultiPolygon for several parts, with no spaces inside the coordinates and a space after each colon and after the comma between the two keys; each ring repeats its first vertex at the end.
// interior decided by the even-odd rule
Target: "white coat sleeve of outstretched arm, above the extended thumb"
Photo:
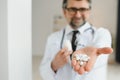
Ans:
{"type": "Polygon", "coordinates": [[[111,47],[112,38],[107,29],[100,28],[95,32],[93,45],[98,48],[111,47]]]}

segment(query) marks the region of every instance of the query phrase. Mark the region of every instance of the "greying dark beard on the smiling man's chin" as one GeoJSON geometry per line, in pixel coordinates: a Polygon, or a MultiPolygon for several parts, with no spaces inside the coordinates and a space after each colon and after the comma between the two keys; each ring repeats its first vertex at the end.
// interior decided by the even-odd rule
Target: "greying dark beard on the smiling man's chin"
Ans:
{"type": "Polygon", "coordinates": [[[72,18],[70,21],[70,25],[73,29],[77,29],[79,27],[81,27],[82,25],[85,24],[85,19],[80,19],[80,18],[72,18]]]}

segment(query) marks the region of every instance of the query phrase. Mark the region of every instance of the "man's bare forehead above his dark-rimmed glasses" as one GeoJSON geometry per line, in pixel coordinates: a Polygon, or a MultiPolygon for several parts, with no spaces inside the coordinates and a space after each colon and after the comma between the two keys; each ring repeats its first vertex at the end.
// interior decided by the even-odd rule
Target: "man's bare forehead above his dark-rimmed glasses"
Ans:
{"type": "Polygon", "coordinates": [[[89,8],[89,2],[87,0],[68,0],[67,7],[89,8]]]}

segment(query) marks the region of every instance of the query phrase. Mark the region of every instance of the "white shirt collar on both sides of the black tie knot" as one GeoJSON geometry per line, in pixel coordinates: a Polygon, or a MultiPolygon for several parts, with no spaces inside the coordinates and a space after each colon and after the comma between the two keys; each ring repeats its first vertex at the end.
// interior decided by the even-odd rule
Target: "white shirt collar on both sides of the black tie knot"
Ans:
{"type": "MultiPolygon", "coordinates": [[[[82,34],[82,33],[84,33],[84,31],[85,31],[86,29],[88,29],[88,28],[90,28],[90,27],[91,27],[91,25],[90,25],[88,22],[86,22],[83,26],[81,26],[81,27],[78,28],[77,30],[82,34]]],[[[72,31],[74,31],[74,29],[72,29],[70,25],[67,25],[65,35],[71,34],[72,31]]]]}

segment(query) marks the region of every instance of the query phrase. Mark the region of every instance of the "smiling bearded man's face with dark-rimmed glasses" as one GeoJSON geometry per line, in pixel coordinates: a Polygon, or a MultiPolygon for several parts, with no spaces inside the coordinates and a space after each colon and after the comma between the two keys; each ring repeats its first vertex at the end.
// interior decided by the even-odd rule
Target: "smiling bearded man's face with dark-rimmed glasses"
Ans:
{"type": "Polygon", "coordinates": [[[68,0],[64,15],[73,29],[79,28],[90,15],[90,5],[86,0],[68,0]]]}

